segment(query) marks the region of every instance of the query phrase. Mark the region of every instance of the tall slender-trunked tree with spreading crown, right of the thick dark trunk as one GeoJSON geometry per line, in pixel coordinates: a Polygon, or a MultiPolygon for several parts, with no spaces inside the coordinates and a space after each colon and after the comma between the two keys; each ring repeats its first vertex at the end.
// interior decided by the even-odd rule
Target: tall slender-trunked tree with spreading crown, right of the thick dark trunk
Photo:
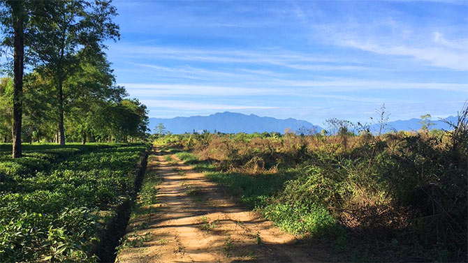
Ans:
{"type": "Polygon", "coordinates": [[[59,144],[65,144],[64,82],[80,70],[80,61],[105,49],[105,40],[119,39],[119,27],[112,22],[117,10],[111,1],[57,0],[46,13],[36,16],[31,45],[35,62],[47,67],[57,92],[59,144]]]}

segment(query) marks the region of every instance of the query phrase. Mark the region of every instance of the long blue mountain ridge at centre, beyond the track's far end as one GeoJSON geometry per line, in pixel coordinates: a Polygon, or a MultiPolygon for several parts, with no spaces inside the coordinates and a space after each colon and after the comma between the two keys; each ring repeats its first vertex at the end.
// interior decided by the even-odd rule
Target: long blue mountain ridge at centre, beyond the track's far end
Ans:
{"type": "Polygon", "coordinates": [[[272,117],[258,117],[257,115],[240,114],[235,112],[219,112],[210,116],[175,117],[172,119],[149,118],[149,128],[154,132],[155,127],[163,123],[166,130],[174,134],[197,133],[215,130],[221,133],[284,133],[286,128],[298,132],[300,130],[322,130],[307,121],[297,119],[275,119],[272,117]]]}

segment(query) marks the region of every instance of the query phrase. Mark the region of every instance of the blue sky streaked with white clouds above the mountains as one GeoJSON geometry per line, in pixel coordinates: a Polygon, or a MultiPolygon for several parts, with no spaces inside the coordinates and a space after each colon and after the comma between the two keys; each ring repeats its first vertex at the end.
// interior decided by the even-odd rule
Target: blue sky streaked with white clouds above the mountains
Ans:
{"type": "Polygon", "coordinates": [[[321,124],[447,117],[468,99],[468,1],[115,1],[117,84],[150,117],[321,124]]]}

